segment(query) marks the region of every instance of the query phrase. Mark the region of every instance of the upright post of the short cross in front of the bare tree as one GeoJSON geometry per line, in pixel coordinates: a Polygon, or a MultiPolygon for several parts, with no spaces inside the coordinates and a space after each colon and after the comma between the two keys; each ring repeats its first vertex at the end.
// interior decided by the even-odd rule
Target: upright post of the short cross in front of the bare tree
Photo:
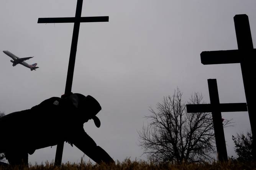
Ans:
{"type": "Polygon", "coordinates": [[[218,153],[218,160],[223,162],[228,160],[228,154],[226,152],[226,141],[222,124],[222,113],[220,112],[219,109],[217,109],[218,105],[220,104],[217,81],[216,79],[208,79],[207,81],[209,88],[210,103],[217,106],[216,110],[213,110],[212,112],[212,121],[216,141],[216,148],[218,153]]]}

